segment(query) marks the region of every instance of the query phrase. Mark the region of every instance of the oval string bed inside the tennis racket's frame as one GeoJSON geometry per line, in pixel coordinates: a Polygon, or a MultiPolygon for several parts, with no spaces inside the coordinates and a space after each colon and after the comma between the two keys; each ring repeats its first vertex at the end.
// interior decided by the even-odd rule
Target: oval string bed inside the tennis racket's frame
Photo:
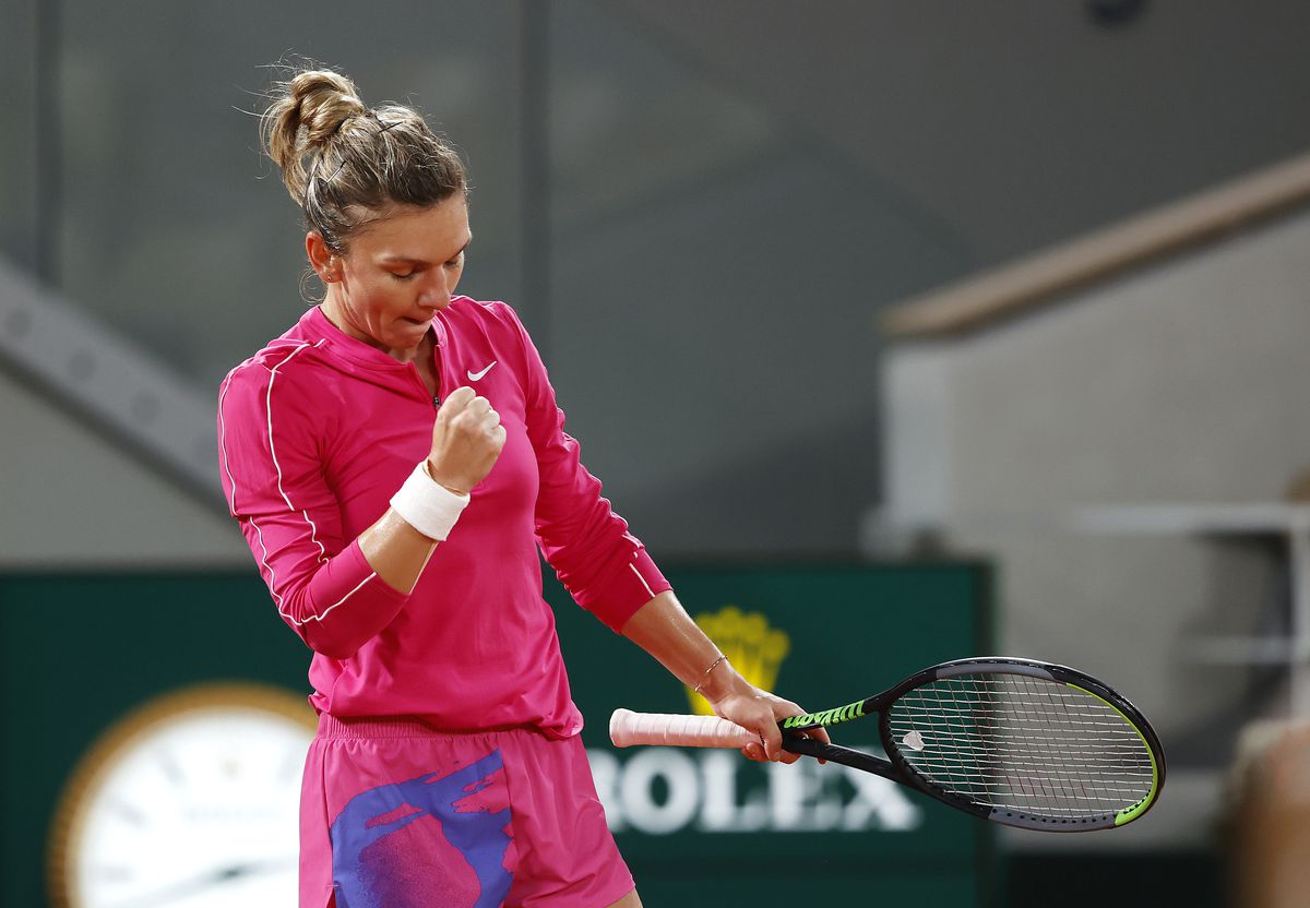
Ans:
{"type": "Polygon", "coordinates": [[[1100,816],[1141,801],[1154,784],[1137,730],[1110,704],[1057,681],[938,679],[904,694],[887,718],[900,755],[921,776],[989,807],[1100,816]]]}

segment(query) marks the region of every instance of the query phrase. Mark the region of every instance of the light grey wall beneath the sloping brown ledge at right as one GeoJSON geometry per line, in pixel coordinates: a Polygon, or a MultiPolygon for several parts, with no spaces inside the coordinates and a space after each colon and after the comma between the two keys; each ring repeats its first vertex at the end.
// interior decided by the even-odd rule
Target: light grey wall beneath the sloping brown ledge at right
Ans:
{"type": "Polygon", "coordinates": [[[1286,632],[1286,542],[1093,533],[1082,515],[1284,501],[1310,465],[1307,249],[1302,211],[884,360],[883,540],[927,529],[996,558],[1002,649],[1114,679],[1154,717],[1175,778],[1155,825],[1192,841],[1241,728],[1288,710],[1285,667],[1207,655],[1286,632]]]}

